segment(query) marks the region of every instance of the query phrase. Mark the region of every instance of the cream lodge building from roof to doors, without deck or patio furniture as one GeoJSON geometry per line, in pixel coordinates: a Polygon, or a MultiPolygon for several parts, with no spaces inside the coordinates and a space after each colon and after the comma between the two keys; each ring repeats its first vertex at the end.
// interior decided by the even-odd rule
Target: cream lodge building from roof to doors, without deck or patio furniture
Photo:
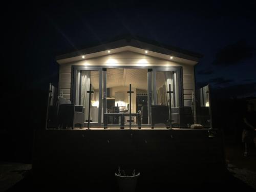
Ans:
{"type": "MultiPolygon", "coordinates": [[[[92,127],[103,127],[106,119],[108,124],[112,124],[109,126],[120,124],[122,120],[113,120],[119,117],[113,115],[110,120],[110,117],[104,117],[104,114],[129,113],[130,110],[134,116],[140,113],[140,116],[132,117],[134,119],[132,125],[138,124],[138,118],[141,118],[142,127],[153,127],[152,107],[169,106],[169,102],[172,108],[171,114],[173,113],[171,115],[173,125],[180,127],[182,124],[180,115],[175,115],[179,114],[175,109],[180,106],[189,107],[196,121],[196,106],[193,105],[196,91],[194,66],[200,57],[202,56],[199,54],[178,48],[160,47],[135,39],[113,41],[57,56],[58,94],[71,100],[75,105],[83,105],[84,122],[86,122],[89,117],[87,91],[91,83],[94,92],[90,101],[92,127]],[[129,84],[133,91],[130,110],[130,96],[127,94],[129,84]],[[171,86],[171,99],[167,93],[168,84],[171,86]]],[[[157,124],[155,125],[157,127],[159,123],[164,122],[154,124],[157,124]]]]}

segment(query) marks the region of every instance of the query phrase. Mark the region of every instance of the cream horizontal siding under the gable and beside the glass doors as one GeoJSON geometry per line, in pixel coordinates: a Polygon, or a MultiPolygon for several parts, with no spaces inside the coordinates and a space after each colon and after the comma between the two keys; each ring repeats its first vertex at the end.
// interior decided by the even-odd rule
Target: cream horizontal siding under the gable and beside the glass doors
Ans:
{"type": "Polygon", "coordinates": [[[184,105],[190,105],[191,93],[195,93],[194,67],[182,65],[170,60],[159,59],[135,52],[120,52],[102,57],[84,59],[78,62],[65,64],[60,66],[59,70],[59,90],[63,90],[63,96],[70,99],[71,88],[71,67],[74,66],[181,66],[183,68],[183,94],[184,105]]]}

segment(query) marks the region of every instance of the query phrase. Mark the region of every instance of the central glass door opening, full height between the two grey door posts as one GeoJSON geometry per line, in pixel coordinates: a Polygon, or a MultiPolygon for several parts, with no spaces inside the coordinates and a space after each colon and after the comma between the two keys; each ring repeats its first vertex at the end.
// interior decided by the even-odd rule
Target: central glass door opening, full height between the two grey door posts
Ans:
{"type": "MultiPolygon", "coordinates": [[[[152,70],[151,70],[152,71],[152,70]]],[[[151,84],[151,77],[150,77],[151,84]]],[[[151,86],[150,86],[151,87],[151,86]]],[[[132,67],[109,67],[103,69],[103,114],[108,114],[108,126],[120,127],[121,117],[124,126],[129,126],[131,104],[132,125],[137,126],[141,114],[141,124],[148,124],[148,70],[132,67]],[[130,89],[133,93],[127,93],[130,89]]],[[[152,91],[151,91],[152,92],[152,91]]]]}

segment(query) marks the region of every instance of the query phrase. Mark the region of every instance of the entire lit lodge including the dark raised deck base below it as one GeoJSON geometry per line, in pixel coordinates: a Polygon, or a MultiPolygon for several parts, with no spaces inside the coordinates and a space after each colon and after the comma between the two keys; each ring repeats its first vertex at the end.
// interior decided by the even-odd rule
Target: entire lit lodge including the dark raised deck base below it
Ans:
{"type": "Polygon", "coordinates": [[[115,190],[120,165],[139,170],[142,191],[220,180],[223,135],[209,86],[195,89],[201,57],[134,38],[57,56],[46,129],[34,135],[35,181],[115,190]]]}

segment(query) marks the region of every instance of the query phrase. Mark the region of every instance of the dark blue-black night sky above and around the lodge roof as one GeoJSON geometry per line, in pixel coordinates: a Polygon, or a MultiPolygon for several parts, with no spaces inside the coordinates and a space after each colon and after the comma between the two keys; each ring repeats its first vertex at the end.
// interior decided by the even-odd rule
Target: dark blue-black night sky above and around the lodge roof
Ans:
{"type": "Polygon", "coordinates": [[[5,6],[5,67],[17,87],[47,89],[58,81],[56,55],[131,34],[203,54],[198,86],[255,96],[255,1],[90,2],[5,6]]]}

